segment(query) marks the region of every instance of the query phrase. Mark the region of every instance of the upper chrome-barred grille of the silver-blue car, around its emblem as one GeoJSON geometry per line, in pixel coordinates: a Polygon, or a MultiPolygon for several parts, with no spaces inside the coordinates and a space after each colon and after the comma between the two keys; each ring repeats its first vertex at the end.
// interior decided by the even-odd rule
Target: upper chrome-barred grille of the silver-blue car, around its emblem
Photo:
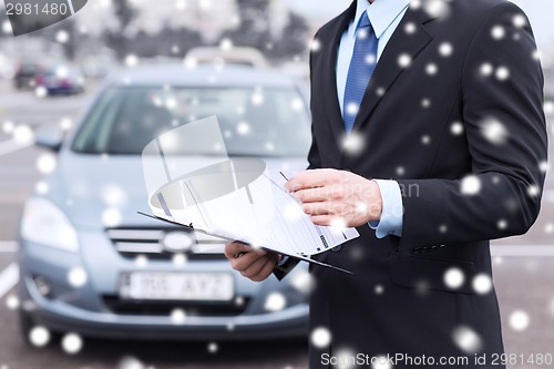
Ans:
{"type": "MultiPolygon", "coordinates": [[[[148,258],[171,259],[174,253],[166,252],[162,246],[164,237],[172,232],[183,232],[179,227],[164,228],[109,228],[107,237],[112,240],[114,248],[126,258],[145,255],[148,258]]],[[[187,253],[189,260],[225,259],[223,254],[225,243],[216,237],[189,233],[194,244],[187,253]]]]}

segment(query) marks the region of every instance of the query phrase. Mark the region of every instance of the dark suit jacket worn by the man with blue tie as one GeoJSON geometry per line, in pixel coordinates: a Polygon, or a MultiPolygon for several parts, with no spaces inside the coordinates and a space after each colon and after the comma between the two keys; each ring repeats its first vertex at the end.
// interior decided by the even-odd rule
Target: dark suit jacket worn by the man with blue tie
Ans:
{"type": "Polygon", "coordinates": [[[489,239],[525,233],[538,214],[533,189],[543,186],[547,147],[543,75],[517,7],[503,0],[445,4],[442,14],[412,7],[403,17],[361,103],[353,134],[365,146],[356,153],[342,150],[336,90],[337,49],[356,2],[316,37],[321,48],[310,60],[310,168],[394,178],[404,214],[401,238],[377,239],[362,226],[361,237],[340,252],[317,256],[356,276],[311,269],[310,325],[328,328],[332,340],[311,347],[310,368],[325,367],[322,353],[345,352],[468,357],[466,368],[478,367],[476,352],[488,353],[492,367],[491,355],[503,352],[494,289],[481,295],[472,283],[492,274],[489,239]],[[407,32],[408,24],[416,31],[407,32]],[[494,27],[502,27],[503,38],[492,35],[494,27]],[[445,44],[451,53],[441,52],[445,44]],[[406,57],[412,60],[407,68],[399,63],[406,57]],[[427,72],[430,64],[437,73],[427,72]],[[462,181],[469,174],[473,183],[462,181]],[[475,189],[471,184],[480,188],[468,194],[465,187],[475,189]],[[444,281],[452,268],[464,276],[458,288],[444,281]],[[464,350],[455,337],[468,329],[476,338],[464,350]]]}

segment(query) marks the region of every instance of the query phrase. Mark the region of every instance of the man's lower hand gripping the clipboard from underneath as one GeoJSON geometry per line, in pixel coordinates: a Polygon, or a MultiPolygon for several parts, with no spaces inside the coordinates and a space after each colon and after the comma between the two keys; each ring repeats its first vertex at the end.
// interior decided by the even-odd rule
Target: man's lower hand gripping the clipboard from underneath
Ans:
{"type": "Polygon", "coordinates": [[[280,258],[277,254],[256,249],[238,242],[225,245],[225,256],[229,259],[233,269],[254,281],[267,279],[280,258]]]}

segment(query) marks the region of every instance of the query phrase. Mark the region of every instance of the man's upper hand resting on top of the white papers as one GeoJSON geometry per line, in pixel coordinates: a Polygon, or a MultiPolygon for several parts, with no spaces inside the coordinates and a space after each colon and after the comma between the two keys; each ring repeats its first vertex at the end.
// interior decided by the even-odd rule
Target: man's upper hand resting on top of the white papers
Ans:
{"type": "Polygon", "coordinates": [[[304,212],[316,225],[358,227],[381,218],[379,185],[350,172],[302,172],[290,180],[285,188],[301,202],[304,212]]]}

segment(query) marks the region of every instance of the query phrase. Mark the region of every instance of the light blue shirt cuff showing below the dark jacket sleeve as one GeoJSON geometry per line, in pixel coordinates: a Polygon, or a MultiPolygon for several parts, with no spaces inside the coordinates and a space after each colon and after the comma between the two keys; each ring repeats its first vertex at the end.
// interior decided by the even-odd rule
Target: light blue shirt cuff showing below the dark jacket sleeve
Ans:
{"type": "Polygon", "coordinates": [[[382,198],[381,219],[370,222],[369,226],[376,230],[377,238],[387,236],[402,236],[402,194],[397,181],[373,180],[379,185],[382,198]]]}

